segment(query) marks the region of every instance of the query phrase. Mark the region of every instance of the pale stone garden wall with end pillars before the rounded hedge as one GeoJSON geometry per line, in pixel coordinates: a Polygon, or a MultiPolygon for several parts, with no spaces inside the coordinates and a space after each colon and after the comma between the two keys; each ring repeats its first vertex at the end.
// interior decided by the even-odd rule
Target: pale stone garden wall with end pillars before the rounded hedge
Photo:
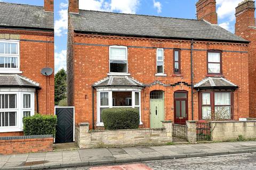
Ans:
{"type": "Polygon", "coordinates": [[[159,129],[125,129],[89,131],[89,123],[75,129],[79,148],[125,147],[135,145],[163,145],[172,142],[172,122],[163,122],[159,129]]]}

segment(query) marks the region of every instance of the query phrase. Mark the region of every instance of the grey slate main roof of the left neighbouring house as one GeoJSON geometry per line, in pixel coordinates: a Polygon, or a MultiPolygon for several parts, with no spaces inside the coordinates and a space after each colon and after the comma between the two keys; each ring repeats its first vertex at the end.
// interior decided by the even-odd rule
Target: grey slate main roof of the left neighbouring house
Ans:
{"type": "Polygon", "coordinates": [[[0,27],[53,30],[53,12],[43,6],[0,2],[0,27]]]}

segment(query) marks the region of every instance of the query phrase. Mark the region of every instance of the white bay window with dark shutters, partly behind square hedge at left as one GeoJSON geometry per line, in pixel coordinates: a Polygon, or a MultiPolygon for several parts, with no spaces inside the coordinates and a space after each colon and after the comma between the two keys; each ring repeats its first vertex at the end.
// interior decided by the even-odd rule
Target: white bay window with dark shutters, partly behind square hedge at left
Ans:
{"type": "Polygon", "coordinates": [[[34,115],[34,89],[0,88],[0,132],[22,131],[23,116],[34,115]]]}

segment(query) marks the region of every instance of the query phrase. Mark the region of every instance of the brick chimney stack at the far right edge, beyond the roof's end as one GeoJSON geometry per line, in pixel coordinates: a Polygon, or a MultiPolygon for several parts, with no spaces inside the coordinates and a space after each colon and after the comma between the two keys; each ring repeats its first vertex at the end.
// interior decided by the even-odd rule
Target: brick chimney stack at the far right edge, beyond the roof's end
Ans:
{"type": "Polygon", "coordinates": [[[246,39],[249,26],[255,27],[255,5],[253,0],[245,0],[236,7],[235,34],[246,39]]]}

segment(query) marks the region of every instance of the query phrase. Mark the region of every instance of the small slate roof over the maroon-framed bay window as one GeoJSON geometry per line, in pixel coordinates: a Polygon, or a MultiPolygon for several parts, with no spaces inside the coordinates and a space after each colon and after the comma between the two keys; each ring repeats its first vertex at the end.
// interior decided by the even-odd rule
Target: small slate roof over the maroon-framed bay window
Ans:
{"type": "Polygon", "coordinates": [[[208,77],[199,83],[195,84],[194,88],[196,89],[237,89],[236,84],[228,81],[225,78],[213,78],[208,77]]]}

